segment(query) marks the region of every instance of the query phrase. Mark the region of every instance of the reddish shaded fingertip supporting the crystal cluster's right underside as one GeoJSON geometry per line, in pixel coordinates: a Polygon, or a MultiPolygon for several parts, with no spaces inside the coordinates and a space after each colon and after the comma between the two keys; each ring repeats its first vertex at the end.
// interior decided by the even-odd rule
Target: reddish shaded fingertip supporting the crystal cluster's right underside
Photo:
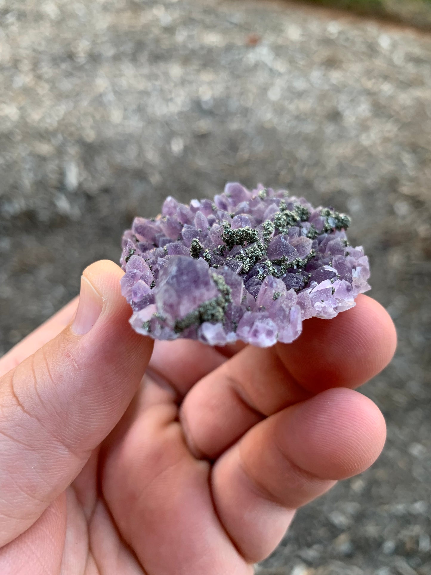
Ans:
{"type": "Polygon", "coordinates": [[[277,351],[299,384],[318,393],[364,384],[388,365],[396,347],[397,333],[386,309],[360,295],[354,308],[332,320],[304,321],[302,335],[279,344],[277,351]]]}

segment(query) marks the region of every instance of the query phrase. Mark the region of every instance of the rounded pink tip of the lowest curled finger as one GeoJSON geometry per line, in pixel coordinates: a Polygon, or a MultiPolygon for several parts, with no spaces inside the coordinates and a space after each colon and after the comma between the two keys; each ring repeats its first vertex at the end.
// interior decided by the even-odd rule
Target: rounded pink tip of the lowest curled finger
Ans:
{"type": "Polygon", "coordinates": [[[329,389],[286,410],[276,428],[288,458],[324,480],[361,473],[382,452],[386,423],[368,397],[329,389]]]}

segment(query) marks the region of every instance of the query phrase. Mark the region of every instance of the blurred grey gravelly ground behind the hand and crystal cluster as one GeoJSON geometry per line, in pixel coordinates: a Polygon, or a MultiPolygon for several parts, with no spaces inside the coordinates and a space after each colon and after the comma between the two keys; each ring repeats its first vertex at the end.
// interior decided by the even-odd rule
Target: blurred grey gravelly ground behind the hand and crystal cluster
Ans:
{"type": "Polygon", "coordinates": [[[257,572],[430,575],[431,2],[330,5],[0,0],[0,354],[168,194],[263,182],[345,210],[399,333],[364,388],[388,440],[257,572]]]}

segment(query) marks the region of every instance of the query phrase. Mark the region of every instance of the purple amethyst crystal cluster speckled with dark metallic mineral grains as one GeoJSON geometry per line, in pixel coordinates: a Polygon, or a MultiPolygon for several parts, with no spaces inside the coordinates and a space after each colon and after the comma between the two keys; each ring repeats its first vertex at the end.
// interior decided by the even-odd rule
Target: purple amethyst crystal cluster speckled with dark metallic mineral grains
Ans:
{"type": "Polygon", "coordinates": [[[228,183],[214,200],[135,218],[125,232],[122,294],[133,328],[155,339],[259,347],[298,338],[370,289],[368,258],[349,246],[349,218],[259,185],[228,183]]]}

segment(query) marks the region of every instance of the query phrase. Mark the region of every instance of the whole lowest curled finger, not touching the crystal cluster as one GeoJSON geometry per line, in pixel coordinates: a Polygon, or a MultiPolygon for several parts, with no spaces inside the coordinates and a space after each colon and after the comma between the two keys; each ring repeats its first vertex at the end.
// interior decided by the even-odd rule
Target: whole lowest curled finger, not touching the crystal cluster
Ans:
{"type": "Polygon", "coordinates": [[[212,474],[218,516],[244,557],[265,557],[286,530],[291,510],[367,469],[385,436],[376,405],[346,388],[287,407],[249,430],[212,474]],[[233,511],[238,501],[240,514],[233,511]]]}

